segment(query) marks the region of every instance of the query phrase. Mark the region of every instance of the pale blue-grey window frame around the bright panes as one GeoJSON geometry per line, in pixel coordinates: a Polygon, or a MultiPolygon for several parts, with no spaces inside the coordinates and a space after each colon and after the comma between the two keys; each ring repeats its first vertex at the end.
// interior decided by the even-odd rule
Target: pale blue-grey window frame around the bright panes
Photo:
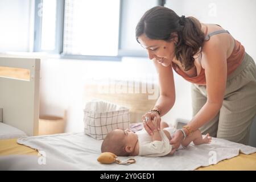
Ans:
{"type": "MultiPolygon", "coordinates": [[[[94,55],[69,55],[63,53],[63,30],[64,30],[64,8],[65,0],[57,0],[56,9],[56,39],[55,49],[53,51],[42,50],[42,16],[38,16],[40,9],[39,4],[43,0],[35,0],[35,22],[34,22],[34,52],[47,52],[60,55],[61,59],[81,59],[81,60],[101,60],[101,61],[121,61],[122,57],[147,57],[146,51],[143,50],[126,50],[121,49],[121,35],[122,35],[122,8],[123,0],[119,0],[119,33],[118,33],[118,54],[117,56],[94,56],[94,55]]],[[[165,0],[158,0],[159,6],[164,6],[165,0]]]]}

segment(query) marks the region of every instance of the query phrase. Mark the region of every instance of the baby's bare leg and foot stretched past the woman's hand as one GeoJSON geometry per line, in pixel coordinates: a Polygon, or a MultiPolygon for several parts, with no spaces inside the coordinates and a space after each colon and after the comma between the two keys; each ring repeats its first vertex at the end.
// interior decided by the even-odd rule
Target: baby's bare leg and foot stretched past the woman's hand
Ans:
{"type": "Polygon", "coordinates": [[[203,144],[203,143],[210,143],[212,141],[212,137],[209,137],[209,134],[205,135],[203,138],[201,132],[199,130],[194,131],[190,136],[187,136],[181,144],[184,147],[187,147],[189,143],[193,143],[195,145],[203,144]]]}

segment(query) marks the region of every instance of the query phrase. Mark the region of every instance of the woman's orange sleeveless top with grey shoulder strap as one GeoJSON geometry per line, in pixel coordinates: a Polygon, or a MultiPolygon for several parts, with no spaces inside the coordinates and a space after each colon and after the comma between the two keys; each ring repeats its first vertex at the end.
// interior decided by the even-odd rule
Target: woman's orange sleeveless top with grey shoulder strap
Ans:
{"type": "MultiPolygon", "coordinates": [[[[224,31],[221,31],[224,32],[224,31]]],[[[216,31],[216,32],[212,32],[210,33],[211,35],[216,35],[216,34],[220,34],[220,31],[216,31]],[[214,34],[215,33],[215,34],[214,34]]],[[[228,32],[228,31],[225,31],[228,32]]],[[[229,33],[229,32],[228,32],[229,33]]],[[[210,38],[210,34],[208,34],[205,37],[205,40],[209,40],[210,38]]],[[[242,63],[243,57],[245,56],[245,48],[242,46],[242,44],[240,42],[238,42],[238,40],[234,39],[235,41],[235,46],[234,49],[231,53],[231,55],[228,57],[228,59],[226,60],[227,62],[227,75],[229,76],[233,71],[236,70],[236,68],[242,63]]],[[[175,72],[182,76],[185,80],[192,82],[193,84],[198,84],[198,85],[206,85],[206,78],[205,78],[205,72],[204,72],[204,68],[201,66],[201,71],[199,73],[199,75],[195,76],[195,77],[189,77],[185,72],[183,72],[179,66],[175,63],[172,62],[172,68],[175,70],[175,72]]]]}

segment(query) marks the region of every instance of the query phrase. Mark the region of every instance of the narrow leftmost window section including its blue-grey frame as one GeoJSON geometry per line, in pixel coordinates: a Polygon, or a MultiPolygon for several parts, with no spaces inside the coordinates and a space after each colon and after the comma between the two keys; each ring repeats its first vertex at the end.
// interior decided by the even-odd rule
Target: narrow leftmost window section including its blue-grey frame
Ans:
{"type": "Polygon", "coordinates": [[[60,53],[64,0],[35,0],[34,52],[60,53]]]}

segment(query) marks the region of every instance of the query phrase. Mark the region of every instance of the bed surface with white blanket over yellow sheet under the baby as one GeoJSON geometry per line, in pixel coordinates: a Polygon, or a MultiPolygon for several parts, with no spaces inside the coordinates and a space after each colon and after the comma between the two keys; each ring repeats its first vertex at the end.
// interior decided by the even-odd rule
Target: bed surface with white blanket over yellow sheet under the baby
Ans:
{"type": "MultiPolygon", "coordinates": [[[[221,140],[221,139],[218,139],[221,140]]],[[[24,137],[18,139],[0,140],[0,169],[17,169],[16,163],[23,162],[21,168],[18,169],[40,169],[44,165],[38,165],[40,154],[46,158],[46,162],[51,163],[55,160],[55,165],[59,166],[55,169],[61,169],[61,166],[69,167],[68,169],[78,170],[256,170],[256,148],[237,146],[237,143],[221,140],[217,143],[213,138],[213,144],[208,146],[189,145],[189,148],[180,150],[174,156],[164,156],[160,158],[147,158],[135,156],[137,162],[130,165],[120,164],[100,164],[97,158],[100,155],[100,146],[102,140],[95,140],[88,135],[81,133],[64,133],[55,135],[44,135],[37,137],[24,137]],[[27,147],[30,146],[30,147],[27,147]],[[36,148],[36,150],[35,150],[36,148]],[[217,155],[220,160],[217,164],[208,164],[209,151],[218,148],[217,155]],[[238,154],[239,151],[247,152],[247,154],[238,154]],[[40,153],[40,154],[39,154],[40,153]],[[31,158],[31,159],[30,159],[31,158]],[[24,159],[26,159],[24,161],[24,159]],[[27,159],[35,160],[34,164],[27,163],[27,159]],[[225,160],[223,160],[225,159],[225,160]],[[11,161],[15,161],[10,165],[11,161]],[[56,162],[57,161],[57,162],[56,162]],[[64,163],[64,164],[63,164],[64,163]],[[172,164],[173,163],[173,164],[172,164]],[[180,164],[177,165],[177,164],[180,164]],[[9,168],[8,165],[10,166],[9,168]],[[157,169],[155,166],[159,166],[157,169]],[[199,167],[208,166],[208,167],[199,167]]],[[[127,160],[129,157],[121,157],[121,160],[127,160]]],[[[52,166],[48,166],[52,168],[52,166]]],[[[53,168],[54,169],[54,168],[53,168]]]]}

